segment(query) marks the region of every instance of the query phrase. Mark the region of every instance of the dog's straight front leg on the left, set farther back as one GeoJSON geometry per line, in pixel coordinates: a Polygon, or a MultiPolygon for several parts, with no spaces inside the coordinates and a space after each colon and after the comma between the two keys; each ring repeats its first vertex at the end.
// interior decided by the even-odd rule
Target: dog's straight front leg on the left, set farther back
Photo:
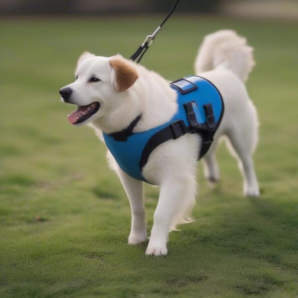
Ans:
{"type": "Polygon", "coordinates": [[[143,182],[132,178],[118,166],[118,175],[129,198],[132,211],[129,244],[139,244],[147,240],[145,208],[143,205],[143,182]]]}

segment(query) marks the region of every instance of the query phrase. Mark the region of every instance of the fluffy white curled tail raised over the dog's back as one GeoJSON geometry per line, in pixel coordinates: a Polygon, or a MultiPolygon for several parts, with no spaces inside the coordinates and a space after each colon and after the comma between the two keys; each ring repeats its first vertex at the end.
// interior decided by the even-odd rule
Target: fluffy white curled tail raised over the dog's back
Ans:
{"type": "Polygon", "coordinates": [[[243,82],[254,66],[253,48],[233,30],[220,30],[205,36],[195,62],[196,74],[225,68],[243,82]]]}

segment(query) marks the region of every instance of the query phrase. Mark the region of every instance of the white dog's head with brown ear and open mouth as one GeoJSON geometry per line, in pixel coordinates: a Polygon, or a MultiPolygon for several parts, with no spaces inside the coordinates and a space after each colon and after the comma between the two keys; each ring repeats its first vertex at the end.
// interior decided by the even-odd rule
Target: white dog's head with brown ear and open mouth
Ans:
{"type": "Polygon", "coordinates": [[[87,124],[124,104],[123,92],[137,78],[134,63],[121,55],[107,58],[83,53],[77,61],[75,81],[59,91],[64,102],[78,106],[68,116],[70,123],[87,124]]]}

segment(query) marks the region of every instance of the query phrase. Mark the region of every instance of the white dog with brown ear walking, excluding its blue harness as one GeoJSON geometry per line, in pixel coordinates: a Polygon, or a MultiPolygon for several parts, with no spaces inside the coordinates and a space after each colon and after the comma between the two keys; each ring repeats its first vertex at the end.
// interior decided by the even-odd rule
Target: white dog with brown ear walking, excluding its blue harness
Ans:
{"type": "MultiPolygon", "coordinates": [[[[224,116],[214,142],[204,156],[204,172],[212,182],[220,178],[215,150],[225,136],[228,148],[238,160],[243,174],[243,192],[258,196],[259,187],[252,154],[258,142],[258,118],[244,82],[254,66],[252,48],[234,31],[222,30],[207,35],[195,62],[195,73],[211,81],[224,100],[224,116]]],[[[147,131],[171,119],[176,113],[176,92],[159,74],[120,55],[109,58],[83,53],[77,62],[76,80],[60,90],[63,101],[78,105],[69,115],[76,125],[89,124],[100,139],[119,132],[142,115],[134,133],[147,131]]],[[[199,134],[185,134],[152,151],[143,176],[159,185],[160,195],[146,254],[166,255],[168,233],[176,224],[191,220],[195,203],[199,134]]],[[[126,174],[108,152],[110,166],[118,174],[132,211],[129,244],[147,240],[143,182],[126,174]]]]}

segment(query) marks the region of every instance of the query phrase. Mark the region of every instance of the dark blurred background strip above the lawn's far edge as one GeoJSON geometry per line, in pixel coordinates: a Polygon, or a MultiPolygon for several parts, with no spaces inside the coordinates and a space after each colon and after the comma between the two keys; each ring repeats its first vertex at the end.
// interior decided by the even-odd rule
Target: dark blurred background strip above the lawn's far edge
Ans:
{"type": "MultiPolygon", "coordinates": [[[[140,14],[169,10],[173,0],[1,0],[0,14],[140,14]]],[[[176,13],[298,18],[297,0],[184,0],[176,13]]]]}

